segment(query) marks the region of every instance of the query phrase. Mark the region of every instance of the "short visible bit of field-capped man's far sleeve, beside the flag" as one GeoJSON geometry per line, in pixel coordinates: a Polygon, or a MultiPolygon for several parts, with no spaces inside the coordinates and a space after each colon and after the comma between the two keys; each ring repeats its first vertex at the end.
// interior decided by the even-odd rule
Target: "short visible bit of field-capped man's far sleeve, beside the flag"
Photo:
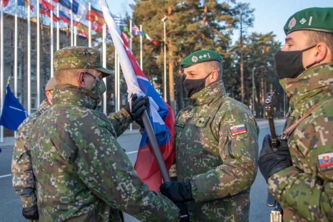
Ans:
{"type": "Polygon", "coordinates": [[[115,129],[117,137],[123,134],[127,127],[133,122],[131,115],[125,109],[111,113],[107,118],[115,129]]]}

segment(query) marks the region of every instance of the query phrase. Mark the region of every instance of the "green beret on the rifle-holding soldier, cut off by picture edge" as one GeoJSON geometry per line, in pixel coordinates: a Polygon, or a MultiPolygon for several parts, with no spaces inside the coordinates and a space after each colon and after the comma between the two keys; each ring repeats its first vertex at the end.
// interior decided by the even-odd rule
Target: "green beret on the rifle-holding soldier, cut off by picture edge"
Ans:
{"type": "Polygon", "coordinates": [[[333,33],[333,8],[307,8],[296,12],[284,26],[284,32],[313,30],[333,33]]]}

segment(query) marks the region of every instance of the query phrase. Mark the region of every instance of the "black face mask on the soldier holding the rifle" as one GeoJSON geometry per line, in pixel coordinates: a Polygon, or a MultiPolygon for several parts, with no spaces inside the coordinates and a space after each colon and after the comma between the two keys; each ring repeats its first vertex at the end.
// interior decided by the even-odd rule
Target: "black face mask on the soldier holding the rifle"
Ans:
{"type": "Polygon", "coordinates": [[[302,54],[303,52],[312,49],[314,46],[311,46],[309,48],[299,50],[299,51],[277,51],[275,53],[275,63],[276,63],[276,72],[277,75],[279,76],[279,79],[284,79],[284,78],[292,78],[295,79],[302,73],[305,68],[308,69],[312,65],[318,63],[312,63],[307,65],[305,68],[303,67],[302,63],[302,54]]]}

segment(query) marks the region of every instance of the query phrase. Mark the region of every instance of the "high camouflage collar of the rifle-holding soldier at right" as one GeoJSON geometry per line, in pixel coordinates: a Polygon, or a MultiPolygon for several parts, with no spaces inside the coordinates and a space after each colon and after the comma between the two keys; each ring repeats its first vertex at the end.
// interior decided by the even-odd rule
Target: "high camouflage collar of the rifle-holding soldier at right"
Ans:
{"type": "Polygon", "coordinates": [[[284,91],[290,97],[292,111],[306,112],[322,98],[331,95],[333,62],[323,63],[305,70],[297,78],[280,80],[284,91]]]}

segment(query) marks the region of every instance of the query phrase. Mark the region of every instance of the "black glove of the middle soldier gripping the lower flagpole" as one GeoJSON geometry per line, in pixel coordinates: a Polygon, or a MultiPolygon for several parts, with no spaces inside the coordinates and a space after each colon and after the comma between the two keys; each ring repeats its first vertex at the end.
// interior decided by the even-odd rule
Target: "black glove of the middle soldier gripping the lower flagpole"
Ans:
{"type": "Polygon", "coordinates": [[[172,202],[186,202],[193,200],[190,182],[169,181],[160,187],[161,193],[172,202]]]}

